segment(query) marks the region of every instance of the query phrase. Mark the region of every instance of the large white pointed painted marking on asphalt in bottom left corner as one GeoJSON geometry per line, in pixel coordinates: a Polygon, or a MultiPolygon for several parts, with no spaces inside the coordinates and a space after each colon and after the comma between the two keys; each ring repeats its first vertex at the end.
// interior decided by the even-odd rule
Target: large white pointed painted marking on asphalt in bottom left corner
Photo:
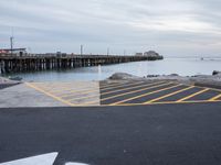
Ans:
{"type": "Polygon", "coordinates": [[[0,165],[53,165],[57,154],[59,153],[49,153],[44,155],[0,163],[0,165]]]}

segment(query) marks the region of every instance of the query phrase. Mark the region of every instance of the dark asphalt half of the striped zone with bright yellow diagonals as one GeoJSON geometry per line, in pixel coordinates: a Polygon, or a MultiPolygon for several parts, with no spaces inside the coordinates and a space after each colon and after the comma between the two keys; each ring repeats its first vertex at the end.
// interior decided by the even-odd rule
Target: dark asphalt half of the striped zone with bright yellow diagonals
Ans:
{"type": "MultiPolygon", "coordinates": [[[[101,88],[105,84],[101,84],[101,88]]],[[[116,88],[116,86],[115,86],[116,88]]],[[[176,81],[143,81],[131,88],[101,90],[101,105],[133,106],[221,101],[221,90],[176,81]]]]}

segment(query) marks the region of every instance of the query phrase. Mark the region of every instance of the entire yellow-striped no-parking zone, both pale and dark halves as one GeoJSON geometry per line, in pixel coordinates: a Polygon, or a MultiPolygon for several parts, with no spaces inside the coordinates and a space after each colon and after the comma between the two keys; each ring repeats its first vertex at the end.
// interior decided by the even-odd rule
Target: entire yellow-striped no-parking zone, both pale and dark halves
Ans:
{"type": "Polygon", "coordinates": [[[221,101],[221,90],[170,80],[27,84],[67,106],[134,106],[221,101]]]}

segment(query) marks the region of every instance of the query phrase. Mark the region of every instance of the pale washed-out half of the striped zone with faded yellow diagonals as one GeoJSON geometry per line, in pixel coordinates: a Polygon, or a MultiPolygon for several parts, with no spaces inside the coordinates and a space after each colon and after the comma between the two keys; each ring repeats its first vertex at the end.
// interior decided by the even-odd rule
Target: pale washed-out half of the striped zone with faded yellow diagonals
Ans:
{"type": "Polygon", "coordinates": [[[92,102],[91,106],[99,106],[97,81],[28,82],[27,85],[71,107],[84,106],[86,102],[92,102]]]}

